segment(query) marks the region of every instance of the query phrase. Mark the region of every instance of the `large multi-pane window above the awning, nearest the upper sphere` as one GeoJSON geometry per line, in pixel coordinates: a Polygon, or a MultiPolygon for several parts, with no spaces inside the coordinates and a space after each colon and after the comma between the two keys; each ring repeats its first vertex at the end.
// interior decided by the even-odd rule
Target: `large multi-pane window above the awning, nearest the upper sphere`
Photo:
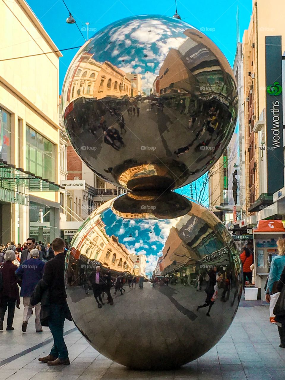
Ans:
{"type": "Polygon", "coordinates": [[[55,180],[55,145],[26,126],[26,170],[49,181],[55,180]]]}

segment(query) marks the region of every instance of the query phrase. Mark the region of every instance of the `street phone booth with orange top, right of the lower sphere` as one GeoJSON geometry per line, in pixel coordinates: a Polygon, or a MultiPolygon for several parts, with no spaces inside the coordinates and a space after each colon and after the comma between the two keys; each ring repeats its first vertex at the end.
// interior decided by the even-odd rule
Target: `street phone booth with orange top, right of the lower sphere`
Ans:
{"type": "Polygon", "coordinates": [[[258,299],[265,299],[264,287],[272,257],[278,254],[277,240],[285,237],[282,220],[260,220],[253,230],[255,288],[258,299]]]}

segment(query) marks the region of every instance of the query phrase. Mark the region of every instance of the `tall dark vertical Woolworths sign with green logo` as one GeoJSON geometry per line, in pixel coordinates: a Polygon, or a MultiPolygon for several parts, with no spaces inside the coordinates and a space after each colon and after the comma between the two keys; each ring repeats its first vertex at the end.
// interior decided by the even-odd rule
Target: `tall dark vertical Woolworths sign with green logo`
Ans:
{"type": "Polygon", "coordinates": [[[268,193],[284,186],[281,36],[265,37],[268,193]]]}

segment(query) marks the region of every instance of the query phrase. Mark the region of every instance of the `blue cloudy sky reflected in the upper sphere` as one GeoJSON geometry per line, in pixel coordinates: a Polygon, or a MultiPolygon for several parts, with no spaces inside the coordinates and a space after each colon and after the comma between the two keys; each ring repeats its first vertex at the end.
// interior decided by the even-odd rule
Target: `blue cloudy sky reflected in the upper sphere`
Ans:
{"type": "Polygon", "coordinates": [[[169,49],[177,49],[187,38],[185,29],[192,27],[171,17],[145,17],[114,22],[93,36],[92,47],[86,46],[100,63],[109,61],[125,73],[142,74],[144,90],[152,88],[169,49]]]}

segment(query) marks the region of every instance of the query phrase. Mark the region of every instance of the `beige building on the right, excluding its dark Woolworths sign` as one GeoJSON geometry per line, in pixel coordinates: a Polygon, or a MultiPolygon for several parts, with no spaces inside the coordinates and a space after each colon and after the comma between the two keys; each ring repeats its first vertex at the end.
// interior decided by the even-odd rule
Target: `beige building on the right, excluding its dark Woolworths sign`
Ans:
{"type": "MultiPolygon", "coordinates": [[[[249,27],[242,39],[244,67],[244,122],[245,122],[245,202],[242,225],[252,226],[260,219],[282,218],[285,203],[282,197],[274,203],[268,192],[266,148],[266,59],[265,37],[281,36],[281,51],[285,51],[285,3],[274,1],[270,9],[266,0],[255,0],[249,27]],[[274,11],[272,11],[274,9],[274,11]]],[[[280,57],[281,60],[281,57],[280,57]]],[[[283,75],[284,78],[284,75],[283,75]]],[[[280,189],[282,190],[282,189],[280,189]]],[[[282,193],[282,192],[281,192],[282,193]]],[[[284,192],[285,194],[285,192],[284,192]]],[[[277,193],[276,193],[276,199],[277,193]]]]}

